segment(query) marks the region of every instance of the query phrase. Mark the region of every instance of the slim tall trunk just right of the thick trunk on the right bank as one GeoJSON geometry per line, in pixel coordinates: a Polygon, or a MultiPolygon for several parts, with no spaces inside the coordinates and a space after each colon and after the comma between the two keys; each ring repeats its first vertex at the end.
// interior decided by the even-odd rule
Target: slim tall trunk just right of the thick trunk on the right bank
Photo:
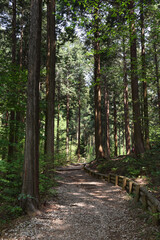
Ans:
{"type": "Polygon", "coordinates": [[[148,96],[146,82],[146,58],[145,58],[145,35],[144,35],[144,14],[143,0],[141,0],[141,59],[142,59],[142,79],[143,79],[143,108],[144,108],[144,139],[145,148],[149,149],[149,119],[148,119],[148,96]]]}

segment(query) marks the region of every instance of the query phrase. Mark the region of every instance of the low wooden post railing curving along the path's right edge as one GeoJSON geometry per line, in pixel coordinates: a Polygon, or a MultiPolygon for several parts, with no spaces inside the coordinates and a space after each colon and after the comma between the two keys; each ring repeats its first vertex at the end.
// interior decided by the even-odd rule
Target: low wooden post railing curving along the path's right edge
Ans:
{"type": "Polygon", "coordinates": [[[84,170],[96,178],[104,179],[115,186],[120,186],[122,187],[122,190],[126,190],[129,194],[132,194],[134,200],[136,202],[141,202],[143,209],[148,210],[151,213],[153,224],[160,224],[160,202],[148,192],[145,187],[124,176],[112,173],[108,175],[98,173],[86,166],[84,166],[84,170]]]}

